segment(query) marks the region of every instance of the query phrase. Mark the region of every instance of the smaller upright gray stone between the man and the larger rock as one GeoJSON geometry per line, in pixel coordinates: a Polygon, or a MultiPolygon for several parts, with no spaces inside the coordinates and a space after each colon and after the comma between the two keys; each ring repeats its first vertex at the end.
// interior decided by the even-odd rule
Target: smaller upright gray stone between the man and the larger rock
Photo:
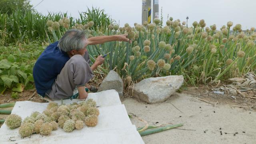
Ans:
{"type": "Polygon", "coordinates": [[[98,92],[101,92],[103,90],[116,90],[119,94],[120,100],[123,100],[123,81],[122,78],[114,71],[110,70],[108,72],[108,75],[102,83],[100,84],[98,88],[98,92]]]}

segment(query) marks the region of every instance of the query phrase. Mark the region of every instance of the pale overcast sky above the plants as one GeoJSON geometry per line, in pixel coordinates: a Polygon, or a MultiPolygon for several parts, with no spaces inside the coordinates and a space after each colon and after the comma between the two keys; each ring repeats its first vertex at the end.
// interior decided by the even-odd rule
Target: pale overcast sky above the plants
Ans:
{"type": "MultiPolygon", "coordinates": [[[[30,0],[30,4],[36,6],[41,1],[30,0]]],[[[68,12],[68,16],[79,18],[79,12],[92,6],[104,9],[120,26],[141,24],[142,0],[43,0],[35,9],[42,14],[68,12]]],[[[169,14],[181,22],[188,16],[188,26],[204,19],[206,26],[216,24],[217,29],[228,21],[232,21],[233,26],[241,24],[243,30],[256,27],[256,0],[159,0],[159,16],[161,8],[164,25],[169,14]]]]}

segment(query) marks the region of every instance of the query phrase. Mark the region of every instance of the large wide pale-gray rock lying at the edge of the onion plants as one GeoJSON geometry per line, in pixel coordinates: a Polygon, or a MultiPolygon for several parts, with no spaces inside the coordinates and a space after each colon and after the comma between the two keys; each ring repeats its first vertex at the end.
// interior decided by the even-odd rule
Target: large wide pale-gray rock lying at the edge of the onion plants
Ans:
{"type": "Polygon", "coordinates": [[[163,102],[182,86],[183,76],[164,76],[147,78],[135,84],[133,92],[135,98],[147,103],[163,102]]]}

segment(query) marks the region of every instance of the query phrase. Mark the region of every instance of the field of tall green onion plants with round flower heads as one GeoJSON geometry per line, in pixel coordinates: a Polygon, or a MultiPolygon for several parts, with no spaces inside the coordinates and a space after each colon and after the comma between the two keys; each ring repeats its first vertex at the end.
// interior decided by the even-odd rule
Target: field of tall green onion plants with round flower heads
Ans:
{"type": "Polygon", "coordinates": [[[160,23],[160,19],[154,19],[154,23],[134,23],[134,26],[110,24],[102,31],[94,30],[93,21],[70,26],[68,18],[48,21],[47,25],[48,35],[54,41],[72,28],[84,30],[88,38],[128,34],[131,44],[108,42],[87,48],[93,62],[96,56],[110,52],[101,70],[115,69],[127,83],[180,74],[187,83],[196,85],[256,72],[255,28],[243,32],[240,24],[227,22],[218,29],[216,25],[206,27],[204,20],[193,22],[193,27],[187,28],[186,22],[172,18],[166,26],[161,27],[160,23]]]}

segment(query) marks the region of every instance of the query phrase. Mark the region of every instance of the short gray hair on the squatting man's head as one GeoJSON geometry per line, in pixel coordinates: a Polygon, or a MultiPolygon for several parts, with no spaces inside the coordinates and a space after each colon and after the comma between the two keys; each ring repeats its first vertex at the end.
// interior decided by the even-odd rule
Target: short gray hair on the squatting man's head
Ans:
{"type": "Polygon", "coordinates": [[[86,44],[86,36],[82,30],[71,29],[66,31],[66,33],[60,38],[58,42],[58,47],[64,52],[69,52],[71,50],[80,50],[84,48],[86,44]]]}

